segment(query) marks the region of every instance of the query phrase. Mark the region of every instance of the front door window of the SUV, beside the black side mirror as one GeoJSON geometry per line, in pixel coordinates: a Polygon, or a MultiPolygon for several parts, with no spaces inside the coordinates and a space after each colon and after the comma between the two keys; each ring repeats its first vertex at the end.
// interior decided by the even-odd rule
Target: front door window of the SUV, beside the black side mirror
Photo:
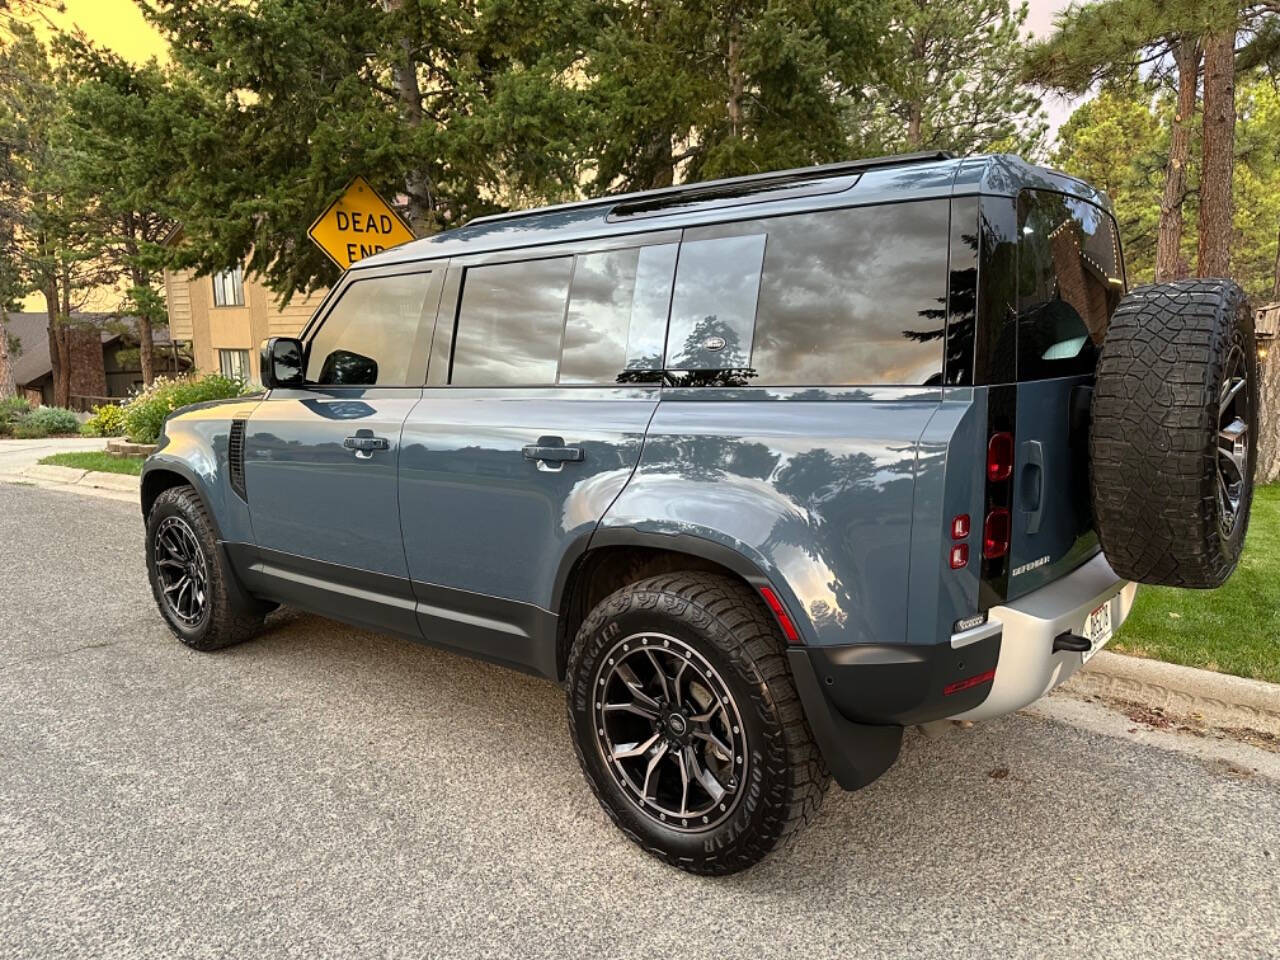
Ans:
{"type": "Polygon", "coordinates": [[[416,380],[422,305],[430,274],[352,283],[329,311],[307,351],[307,380],[330,385],[402,387],[416,380]]]}

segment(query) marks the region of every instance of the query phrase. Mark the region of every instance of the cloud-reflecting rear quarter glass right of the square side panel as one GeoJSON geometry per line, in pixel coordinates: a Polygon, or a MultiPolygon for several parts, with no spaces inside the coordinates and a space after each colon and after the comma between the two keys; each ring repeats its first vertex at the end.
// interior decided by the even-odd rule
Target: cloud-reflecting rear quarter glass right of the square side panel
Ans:
{"type": "Polygon", "coordinates": [[[941,381],[947,218],[931,200],[768,220],[754,383],[941,381]]]}

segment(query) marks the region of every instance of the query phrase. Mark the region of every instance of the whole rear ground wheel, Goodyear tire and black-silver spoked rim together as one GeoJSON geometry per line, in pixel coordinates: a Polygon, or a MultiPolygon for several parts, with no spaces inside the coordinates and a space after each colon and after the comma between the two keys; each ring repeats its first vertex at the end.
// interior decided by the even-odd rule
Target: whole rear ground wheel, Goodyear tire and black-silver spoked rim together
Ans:
{"type": "Polygon", "coordinates": [[[772,620],[726,576],[669,573],[602,600],[570,653],[568,718],[604,810],[691,873],[760,860],[831,780],[772,620]]]}

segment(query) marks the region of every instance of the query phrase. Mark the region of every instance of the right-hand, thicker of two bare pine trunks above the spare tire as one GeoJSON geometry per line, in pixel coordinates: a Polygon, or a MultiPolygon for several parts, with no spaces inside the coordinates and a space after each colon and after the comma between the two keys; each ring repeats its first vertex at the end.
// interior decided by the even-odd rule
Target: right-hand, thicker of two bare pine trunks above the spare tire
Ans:
{"type": "Polygon", "coordinates": [[[1235,151],[1235,29],[1204,38],[1204,154],[1201,170],[1201,276],[1231,269],[1231,165],[1235,151]]]}

